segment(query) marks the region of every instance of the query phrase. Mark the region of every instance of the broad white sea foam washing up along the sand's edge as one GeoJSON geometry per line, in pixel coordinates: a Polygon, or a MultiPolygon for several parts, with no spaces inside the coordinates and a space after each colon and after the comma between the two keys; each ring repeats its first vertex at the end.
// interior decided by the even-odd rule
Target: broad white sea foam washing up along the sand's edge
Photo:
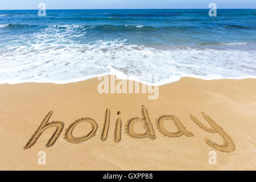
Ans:
{"type": "Polygon", "coordinates": [[[256,51],[189,47],[163,50],[127,44],[126,40],[79,44],[72,38],[80,38],[85,32],[74,34],[73,26],[62,27],[64,31],[49,26],[40,34],[20,36],[9,46],[0,47],[0,83],[64,84],[108,74],[146,83],[144,76],[148,73],[159,75],[156,85],[181,77],[256,78],[256,51]]]}

